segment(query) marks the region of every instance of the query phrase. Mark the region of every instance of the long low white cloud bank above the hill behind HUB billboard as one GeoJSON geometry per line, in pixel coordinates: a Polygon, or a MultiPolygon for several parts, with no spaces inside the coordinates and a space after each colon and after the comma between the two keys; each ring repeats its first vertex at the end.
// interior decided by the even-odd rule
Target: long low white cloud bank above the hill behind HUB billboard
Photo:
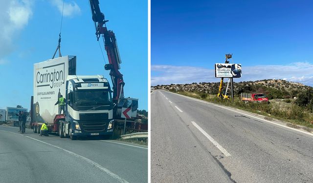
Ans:
{"type": "MultiPolygon", "coordinates": [[[[286,65],[243,66],[243,77],[234,81],[283,79],[313,86],[313,63],[295,62],[286,65]]],[[[192,82],[219,82],[214,69],[190,66],[151,65],[151,85],[192,82]]]]}

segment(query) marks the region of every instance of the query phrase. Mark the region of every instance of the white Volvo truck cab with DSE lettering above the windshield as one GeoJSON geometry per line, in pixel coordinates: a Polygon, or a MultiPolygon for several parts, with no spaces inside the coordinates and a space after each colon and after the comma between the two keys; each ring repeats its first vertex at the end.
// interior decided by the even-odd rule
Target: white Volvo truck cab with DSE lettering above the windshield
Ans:
{"type": "Polygon", "coordinates": [[[60,136],[107,135],[113,133],[112,90],[100,75],[68,75],[65,119],[58,121],[60,136]]]}

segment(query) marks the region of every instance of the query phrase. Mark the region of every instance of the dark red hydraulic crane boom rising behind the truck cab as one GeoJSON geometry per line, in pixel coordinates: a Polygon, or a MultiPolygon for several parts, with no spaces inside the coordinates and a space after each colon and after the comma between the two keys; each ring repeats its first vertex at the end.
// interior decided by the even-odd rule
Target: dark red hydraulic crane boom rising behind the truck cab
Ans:
{"type": "Polygon", "coordinates": [[[105,65],[105,70],[110,70],[110,76],[113,84],[113,102],[118,103],[121,99],[124,98],[124,81],[123,75],[119,72],[120,63],[122,63],[119,51],[117,47],[117,42],[115,38],[115,34],[113,31],[108,30],[106,27],[106,22],[109,20],[105,20],[104,14],[101,13],[99,7],[99,0],[89,0],[92,20],[94,21],[96,27],[96,36],[99,41],[100,36],[102,35],[105,50],[107,51],[109,64],[105,65]]]}

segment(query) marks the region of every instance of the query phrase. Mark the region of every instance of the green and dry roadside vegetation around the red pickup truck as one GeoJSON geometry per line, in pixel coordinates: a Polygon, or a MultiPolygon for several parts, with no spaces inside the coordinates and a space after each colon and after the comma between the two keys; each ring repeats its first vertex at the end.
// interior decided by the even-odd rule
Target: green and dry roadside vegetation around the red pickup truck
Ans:
{"type": "MultiPolygon", "coordinates": [[[[176,90],[172,90],[176,93],[176,90]]],[[[216,95],[203,92],[181,91],[177,93],[201,99],[207,102],[222,104],[267,116],[267,120],[272,118],[284,120],[294,124],[300,124],[313,128],[313,90],[305,90],[299,93],[296,99],[274,99],[270,103],[242,102],[239,97],[234,101],[221,100],[216,95]]]]}

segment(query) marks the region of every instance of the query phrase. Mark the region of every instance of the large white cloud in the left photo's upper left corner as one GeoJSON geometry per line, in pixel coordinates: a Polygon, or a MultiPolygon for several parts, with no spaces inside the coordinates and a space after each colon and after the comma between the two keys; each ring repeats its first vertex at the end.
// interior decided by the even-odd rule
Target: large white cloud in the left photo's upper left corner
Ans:
{"type": "MultiPolygon", "coordinates": [[[[13,40],[24,28],[32,16],[31,0],[0,1],[0,59],[13,50],[13,40]]],[[[0,63],[0,64],[1,64],[0,63]]]]}

